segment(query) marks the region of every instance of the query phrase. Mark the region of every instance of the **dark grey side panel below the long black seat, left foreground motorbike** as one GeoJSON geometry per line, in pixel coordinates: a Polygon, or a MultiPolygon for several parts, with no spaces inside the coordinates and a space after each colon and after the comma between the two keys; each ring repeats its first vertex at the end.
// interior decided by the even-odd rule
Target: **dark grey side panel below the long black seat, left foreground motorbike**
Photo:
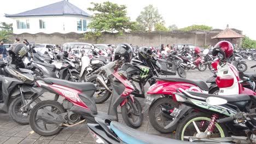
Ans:
{"type": "Polygon", "coordinates": [[[86,91],[84,93],[80,93],[79,98],[84,102],[86,106],[91,109],[92,114],[96,115],[97,114],[97,107],[96,103],[92,99],[92,96],[94,95],[95,91],[86,91]]]}

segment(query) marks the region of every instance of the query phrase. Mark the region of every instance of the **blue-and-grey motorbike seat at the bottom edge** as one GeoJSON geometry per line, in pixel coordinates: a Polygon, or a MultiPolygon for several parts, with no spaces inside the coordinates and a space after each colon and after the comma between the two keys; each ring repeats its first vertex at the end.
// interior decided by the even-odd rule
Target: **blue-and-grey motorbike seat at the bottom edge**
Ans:
{"type": "Polygon", "coordinates": [[[118,122],[112,121],[110,123],[110,128],[114,133],[125,143],[176,143],[184,144],[189,143],[185,141],[178,141],[174,139],[168,139],[166,137],[161,137],[157,135],[146,134],[143,131],[138,131],[127,127],[126,125],[120,124],[118,122]]]}

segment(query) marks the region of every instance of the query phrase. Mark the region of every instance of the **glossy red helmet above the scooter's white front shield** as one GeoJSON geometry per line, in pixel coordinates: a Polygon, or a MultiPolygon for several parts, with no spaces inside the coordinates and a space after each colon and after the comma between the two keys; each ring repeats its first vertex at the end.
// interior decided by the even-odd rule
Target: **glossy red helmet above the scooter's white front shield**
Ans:
{"type": "Polygon", "coordinates": [[[223,55],[224,59],[229,58],[230,56],[232,56],[234,51],[234,47],[233,45],[229,42],[229,41],[219,41],[219,43],[217,43],[214,46],[214,49],[212,50],[212,55],[213,56],[217,56],[218,53],[223,55]]]}

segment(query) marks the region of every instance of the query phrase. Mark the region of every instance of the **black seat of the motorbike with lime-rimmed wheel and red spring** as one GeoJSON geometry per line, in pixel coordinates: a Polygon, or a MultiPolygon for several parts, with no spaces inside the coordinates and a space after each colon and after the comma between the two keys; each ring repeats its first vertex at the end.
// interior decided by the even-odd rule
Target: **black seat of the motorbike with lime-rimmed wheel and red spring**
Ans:
{"type": "Polygon", "coordinates": [[[215,95],[215,94],[206,94],[206,93],[197,93],[197,92],[188,92],[191,95],[195,95],[201,98],[207,99],[208,97],[217,97],[222,98],[228,101],[228,103],[240,102],[240,101],[249,101],[251,98],[246,94],[232,94],[232,95],[215,95]]]}

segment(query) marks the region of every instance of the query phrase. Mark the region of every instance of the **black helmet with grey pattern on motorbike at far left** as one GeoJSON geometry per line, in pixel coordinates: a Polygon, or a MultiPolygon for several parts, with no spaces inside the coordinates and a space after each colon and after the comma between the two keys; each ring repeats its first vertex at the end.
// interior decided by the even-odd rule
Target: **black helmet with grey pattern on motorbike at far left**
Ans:
{"type": "Polygon", "coordinates": [[[12,58],[23,58],[27,55],[27,47],[24,44],[15,43],[10,46],[8,52],[12,58]]]}

